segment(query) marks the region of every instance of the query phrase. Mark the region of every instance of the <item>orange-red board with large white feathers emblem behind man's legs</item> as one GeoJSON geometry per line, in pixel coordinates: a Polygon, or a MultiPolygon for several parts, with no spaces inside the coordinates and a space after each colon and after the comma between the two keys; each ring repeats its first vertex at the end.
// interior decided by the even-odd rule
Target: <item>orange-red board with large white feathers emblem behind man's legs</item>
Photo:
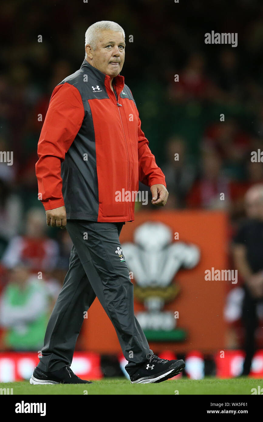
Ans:
{"type": "MultiPolygon", "coordinates": [[[[155,352],[225,346],[226,284],[205,271],[227,270],[227,218],[221,211],[140,211],[120,235],[134,284],[134,309],[155,352]]],[[[95,299],[81,330],[81,346],[121,352],[117,335],[95,299]]]]}

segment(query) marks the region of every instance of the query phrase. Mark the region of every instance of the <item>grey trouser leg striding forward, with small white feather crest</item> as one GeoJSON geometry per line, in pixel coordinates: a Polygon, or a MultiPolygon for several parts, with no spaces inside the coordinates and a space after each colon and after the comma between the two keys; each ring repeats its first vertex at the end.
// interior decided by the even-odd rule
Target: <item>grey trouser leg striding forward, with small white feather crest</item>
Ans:
{"type": "Polygon", "coordinates": [[[122,223],[85,220],[69,220],[67,223],[68,233],[92,289],[114,325],[122,352],[128,360],[127,372],[132,375],[138,364],[146,360],[146,354],[153,352],[134,316],[133,284],[124,257],[120,257],[121,228],[122,223]]]}

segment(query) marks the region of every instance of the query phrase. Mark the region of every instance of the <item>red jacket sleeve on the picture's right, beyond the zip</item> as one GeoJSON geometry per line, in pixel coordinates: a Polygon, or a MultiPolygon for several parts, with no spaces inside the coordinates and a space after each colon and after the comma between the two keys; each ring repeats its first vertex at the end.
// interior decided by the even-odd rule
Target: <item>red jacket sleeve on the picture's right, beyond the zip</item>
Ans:
{"type": "Polygon", "coordinates": [[[149,149],[149,141],[141,130],[141,120],[138,122],[138,161],[139,181],[151,187],[154,184],[163,184],[166,187],[165,176],[155,162],[155,156],[149,149]]]}

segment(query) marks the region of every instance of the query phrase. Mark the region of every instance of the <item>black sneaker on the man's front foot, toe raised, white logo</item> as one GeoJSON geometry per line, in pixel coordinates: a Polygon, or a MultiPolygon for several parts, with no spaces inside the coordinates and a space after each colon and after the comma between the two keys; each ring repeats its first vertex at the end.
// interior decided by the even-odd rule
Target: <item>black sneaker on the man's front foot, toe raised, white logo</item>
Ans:
{"type": "Polygon", "coordinates": [[[155,354],[147,354],[144,362],[137,371],[130,376],[131,384],[148,384],[162,382],[178,375],[185,367],[183,360],[160,359],[155,354]]]}

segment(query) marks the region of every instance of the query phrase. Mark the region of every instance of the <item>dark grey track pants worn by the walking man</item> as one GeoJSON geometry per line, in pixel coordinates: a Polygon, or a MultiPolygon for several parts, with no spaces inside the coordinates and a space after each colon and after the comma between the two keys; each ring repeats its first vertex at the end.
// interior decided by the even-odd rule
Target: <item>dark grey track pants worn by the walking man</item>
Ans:
{"type": "Polygon", "coordinates": [[[46,328],[38,368],[52,372],[70,365],[84,313],[98,297],[116,330],[132,375],[153,354],[133,308],[133,284],[121,249],[123,223],[68,220],[73,241],[69,270],[46,328]]]}

